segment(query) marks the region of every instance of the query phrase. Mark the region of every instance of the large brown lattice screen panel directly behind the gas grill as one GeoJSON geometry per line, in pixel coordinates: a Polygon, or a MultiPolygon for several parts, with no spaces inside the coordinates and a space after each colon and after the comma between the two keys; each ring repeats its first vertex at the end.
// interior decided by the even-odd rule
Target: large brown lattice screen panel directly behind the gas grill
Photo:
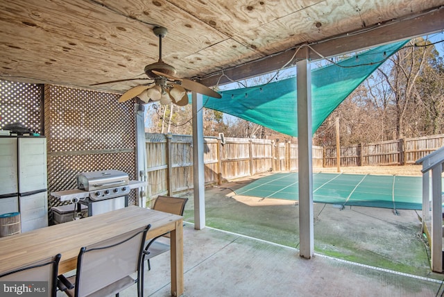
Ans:
{"type": "MultiPolygon", "coordinates": [[[[108,169],[137,179],[134,103],[119,95],[45,85],[49,191],[76,189],[76,175],[108,169]]],[[[135,191],[129,204],[135,204],[135,191]]],[[[58,199],[51,206],[60,205],[58,199]]]]}

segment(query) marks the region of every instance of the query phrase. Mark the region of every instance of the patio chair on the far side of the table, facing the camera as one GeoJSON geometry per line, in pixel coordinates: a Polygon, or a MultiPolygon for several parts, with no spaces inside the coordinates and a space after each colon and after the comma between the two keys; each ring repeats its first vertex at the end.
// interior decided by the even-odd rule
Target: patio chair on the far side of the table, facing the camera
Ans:
{"type": "MultiPolygon", "coordinates": [[[[170,214],[183,215],[185,210],[185,204],[187,204],[188,198],[171,197],[171,196],[157,196],[153,210],[159,210],[160,212],[169,212],[170,214]]],[[[149,241],[146,241],[146,247],[142,256],[142,269],[144,268],[144,260],[148,262],[148,270],[151,270],[150,259],[169,251],[169,244],[157,241],[160,237],[169,237],[169,232],[157,236],[149,241]]]]}

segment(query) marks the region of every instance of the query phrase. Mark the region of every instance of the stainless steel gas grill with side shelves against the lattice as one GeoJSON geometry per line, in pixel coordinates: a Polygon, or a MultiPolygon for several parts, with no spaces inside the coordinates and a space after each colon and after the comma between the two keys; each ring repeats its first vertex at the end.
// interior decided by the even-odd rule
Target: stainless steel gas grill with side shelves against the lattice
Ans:
{"type": "Polygon", "coordinates": [[[143,187],[144,182],[130,180],[118,170],[82,172],[76,176],[77,189],[52,192],[60,201],[87,205],[88,216],[118,210],[128,206],[131,189],[143,187]]]}

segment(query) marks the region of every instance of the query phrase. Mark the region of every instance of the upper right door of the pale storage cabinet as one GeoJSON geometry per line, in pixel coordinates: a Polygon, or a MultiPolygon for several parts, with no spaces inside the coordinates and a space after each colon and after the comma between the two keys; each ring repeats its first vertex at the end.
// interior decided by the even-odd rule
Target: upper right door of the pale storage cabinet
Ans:
{"type": "Polygon", "coordinates": [[[46,189],[46,138],[18,137],[19,193],[46,189]]]}

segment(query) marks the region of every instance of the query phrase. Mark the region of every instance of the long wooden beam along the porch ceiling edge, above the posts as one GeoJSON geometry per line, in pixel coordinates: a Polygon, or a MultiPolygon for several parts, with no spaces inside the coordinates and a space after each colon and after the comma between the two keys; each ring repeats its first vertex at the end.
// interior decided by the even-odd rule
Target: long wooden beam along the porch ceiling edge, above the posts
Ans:
{"type": "MultiPolygon", "coordinates": [[[[402,20],[392,20],[383,24],[375,24],[375,26],[361,29],[361,31],[349,32],[345,35],[330,37],[327,40],[309,44],[311,47],[311,49],[309,49],[309,58],[311,60],[320,60],[321,56],[317,53],[328,58],[343,53],[350,53],[373,46],[435,33],[443,29],[444,6],[441,6],[421,14],[406,17],[402,20]]],[[[223,74],[225,74],[225,76],[222,76],[222,71],[219,71],[208,74],[198,81],[203,85],[211,87],[218,84],[223,85],[230,83],[231,80],[243,80],[276,71],[286,65],[292,58],[293,62],[306,58],[302,56],[305,51],[298,51],[296,56],[293,57],[296,49],[303,45],[304,44],[298,44],[287,51],[248,62],[244,65],[224,69],[223,74]]]]}

